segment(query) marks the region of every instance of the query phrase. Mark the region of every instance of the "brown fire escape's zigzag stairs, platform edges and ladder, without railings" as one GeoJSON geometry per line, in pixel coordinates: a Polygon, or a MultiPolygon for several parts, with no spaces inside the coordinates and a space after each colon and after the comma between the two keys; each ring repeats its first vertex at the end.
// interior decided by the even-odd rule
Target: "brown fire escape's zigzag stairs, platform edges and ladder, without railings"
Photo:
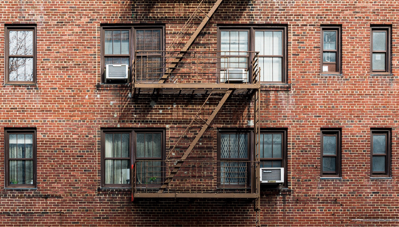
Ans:
{"type": "MultiPolygon", "coordinates": [[[[182,28],[182,31],[179,34],[183,34],[184,30],[186,30],[189,25],[190,22],[192,22],[192,18],[198,17],[198,12],[203,12],[200,9],[201,4],[203,4],[204,0],[201,0],[201,2],[199,3],[199,6],[197,7],[197,9],[195,10],[195,12],[193,13],[192,17],[190,17],[189,22],[186,23],[184,25],[184,28],[182,28]]],[[[199,89],[201,91],[203,91],[203,89],[205,90],[209,90],[210,92],[205,92],[205,94],[207,95],[207,98],[205,99],[205,101],[203,102],[203,105],[200,107],[199,111],[196,113],[196,115],[194,116],[194,118],[191,120],[190,124],[187,126],[187,128],[184,130],[184,132],[181,134],[180,138],[176,141],[176,143],[174,144],[174,146],[172,147],[171,150],[169,150],[168,153],[168,157],[166,158],[166,162],[172,163],[173,162],[173,166],[172,167],[168,167],[166,172],[166,176],[164,179],[164,182],[161,183],[162,185],[160,186],[160,188],[158,189],[158,193],[154,193],[154,191],[152,192],[152,194],[156,194],[156,195],[148,195],[145,193],[135,193],[134,192],[134,188],[133,188],[133,184],[132,184],[132,199],[133,196],[138,196],[138,197],[220,197],[218,195],[215,195],[215,193],[201,193],[201,195],[196,194],[196,193],[180,193],[180,195],[178,195],[178,193],[166,193],[168,186],[170,185],[170,183],[172,182],[172,180],[174,179],[174,177],[176,176],[176,174],[178,174],[179,170],[184,166],[184,162],[186,161],[186,159],[188,158],[188,156],[190,155],[190,153],[192,152],[192,150],[194,149],[194,147],[196,146],[196,144],[198,144],[199,140],[201,139],[201,137],[203,136],[203,134],[205,133],[205,131],[207,130],[207,128],[209,127],[209,125],[211,124],[211,122],[214,120],[215,116],[217,115],[217,113],[220,111],[220,109],[222,108],[222,106],[226,103],[226,101],[229,99],[229,97],[231,97],[231,95],[233,93],[235,93],[235,91],[237,89],[241,89],[241,90],[247,90],[248,93],[247,95],[249,95],[250,97],[252,97],[252,101],[253,101],[253,109],[254,109],[254,134],[255,134],[255,164],[253,164],[253,166],[251,166],[253,175],[252,175],[252,179],[251,181],[253,182],[251,184],[251,193],[247,193],[247,194],[231,194],[231,195],[224,195],[225,197],[235,197],[235,198],[252,198],[255,199],[255,209],[256,207],[259,207],[259,188],[260,188],[260,181],[259,181],[259,133],[260,133],[260,129],[259,129],[259,88],[260,88],[260,84],[259,84],[259,70],[258,70],[258,65],[257,62],[253,63],[251,62],[251,64],[249,64],[251,67],[248,70],[251,70],[252,72],[250,73],[250,75],[252,75],[252,78],[250,78],[249,83],[250,84],[245,84],[245,83],[217,83],[217,84],[209,84],[209,83],[198,83],[198,84],[189,84],[189,83],[182,83],[182,84],[176,84],[176,83],[168,83],[169,79],[171,77],[173,77],[173,72],[176,70],[176,68],[178,67],[179,63],[182,61],[182,59],[185,57],[185,54],[188,53],[190,47],[192,46],[192,44],[194,43],[194,41],[196,40],[196,38],[199,36],[200,32],[203,30],[203,28],[205,27],[205,25],[207,24],[207,22],[209,21],[209,19],[213,16],[213,14],[216,12],[217,8],[220,6],[220,4],[223,2],[223,0],[216,0],[216,2],[213,4],[213,6],[211,7],[211,9],[209,10],[208,13],[205,14],[203,18],[201,19],[201,23],[199,24],[199,26],[196,28],[195,32],[191,35],[190,39],[188,39],[187,43],[184,45],[184,47],[182,47],[182,49],[177,50],[178,54],[175,55],[174,59],[172,61],[168,62],[168,65],[166,66],[166,69],[164,70],[164,73],[162,74],[160,80],[158,81],[158,83],[156,84],[152,84],[152,85],[140,85],[138,84],[138,88],[140,89],[140,86],[142,86],[142,88],[148,88],[149,86],[152,86],[152,88],[154,89],[154,91],[152,92],[152,94],[156,93],[159,94],[160,92],[162,92],[163,89],[187,89],[191,86],[191,89],[199,89]],[[156,90],[156,91],[155,91],[156,90]],[[209,105],[207,103],[209,103],[209,101],[217,101],[216,105],[209,105]],[[210,114],[208,114],[207,116],[203,116],[203,111],[206,108],[205,106],[212,106],[211,107],[211,111],[209,111],[210,114]],[[188,138],[188,134],[192,134],[194,130],[197,130],[197,132],[194,133],[194,138],[193,140],[190,142],[188,148],[182,153],[182,155],[180,157],[171,157],[171,154],[173,153],[174,150],[177,150],[178,148],[182,148],[184,147],[182,145],[182,140],[184,140],[184,138],[188,138]],[[168,170],[170,169],[170,170],[168,170]]],[[[178,40],[178,36],[176,37],[176,39],[172,42],[172,45],[178,40]]],[[[171,48],[169,48],[171,49],[171,48]]],[[[133,94],[136,93],[136,87],[132,87],[133,89],[133,94]]],[[[135,174],[132,173],[132,176],[134,176],[135,174]]],[[[133,181],[134,182],[134,181],[133,181]]],[[[223,197],[223,196],[222,196],[223,197]]]]}

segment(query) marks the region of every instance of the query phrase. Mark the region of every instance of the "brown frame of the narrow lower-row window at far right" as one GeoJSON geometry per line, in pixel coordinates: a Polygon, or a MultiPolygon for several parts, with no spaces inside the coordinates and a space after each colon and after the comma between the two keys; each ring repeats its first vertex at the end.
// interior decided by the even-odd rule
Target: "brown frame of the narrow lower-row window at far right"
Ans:
{"type": "Polygon", "coordinates": [[[391,153],[392,153],[392,132],[391,129],[386,128],[372,128],[370,130],[370,176],[371,177],[390,177],[391,176],[391,153]],[[373,153],[373,135],[385,135],[385,154],[373,153]],[[385,171],[373,171],[373,157],[385,156],[385,171]]]}

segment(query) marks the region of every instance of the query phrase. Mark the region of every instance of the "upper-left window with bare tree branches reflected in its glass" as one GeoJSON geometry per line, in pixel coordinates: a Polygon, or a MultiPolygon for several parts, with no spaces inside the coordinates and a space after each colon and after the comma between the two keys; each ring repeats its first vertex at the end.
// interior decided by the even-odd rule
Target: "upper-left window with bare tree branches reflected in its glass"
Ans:
{"type": "Polygon", "coordinates": [[[6,26],[6,83],[36,83],[36,26],[6,26]]]}

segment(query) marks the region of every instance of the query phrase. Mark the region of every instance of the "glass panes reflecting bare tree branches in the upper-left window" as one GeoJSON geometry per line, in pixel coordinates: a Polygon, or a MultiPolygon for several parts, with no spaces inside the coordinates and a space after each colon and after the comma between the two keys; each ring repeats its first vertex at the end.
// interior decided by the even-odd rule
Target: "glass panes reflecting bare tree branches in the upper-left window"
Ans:
{"type": "Polygon", "coordinates": [[[9,34],[9,81],[33,81],[33,31],[9,34]]]}

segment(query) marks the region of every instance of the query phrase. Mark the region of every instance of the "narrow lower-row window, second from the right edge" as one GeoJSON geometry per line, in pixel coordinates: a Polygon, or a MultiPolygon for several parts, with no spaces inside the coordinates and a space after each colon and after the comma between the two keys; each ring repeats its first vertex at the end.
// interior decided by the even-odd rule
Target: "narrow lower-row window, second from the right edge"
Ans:
{"type": "Polygon", "coordinates": [[[341,176],[341,130],[321,130],[321,176],[341,176]]]}

